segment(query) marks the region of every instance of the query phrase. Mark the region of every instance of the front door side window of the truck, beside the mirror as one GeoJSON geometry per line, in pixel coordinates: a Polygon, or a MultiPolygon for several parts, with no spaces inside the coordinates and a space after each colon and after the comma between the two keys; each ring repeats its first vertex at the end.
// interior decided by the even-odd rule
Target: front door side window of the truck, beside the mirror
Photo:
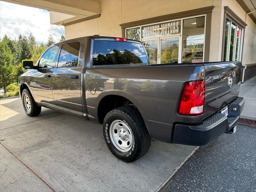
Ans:
{"type": "Polygon", "coordinates": [[[58,52],[58,46],[54,46],[48,49],[39,61],[41,68],[53,68],[55,63],[56,54],[58,52]]]}

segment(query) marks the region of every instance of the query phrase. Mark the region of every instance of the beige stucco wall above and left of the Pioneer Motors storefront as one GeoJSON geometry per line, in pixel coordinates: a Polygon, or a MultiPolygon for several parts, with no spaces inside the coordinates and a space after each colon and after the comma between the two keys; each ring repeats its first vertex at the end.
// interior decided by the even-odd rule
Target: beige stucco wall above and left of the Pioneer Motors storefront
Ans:
{"type": "Polygon", "coordinates": [[[212,0],[108,0],[101,1],[101,16],[65,26],[66,39],[99,34],[122,36],[120,24],[212,6],[212,0]],[[182,2],[182,3],[181,3],[182,2]]]}

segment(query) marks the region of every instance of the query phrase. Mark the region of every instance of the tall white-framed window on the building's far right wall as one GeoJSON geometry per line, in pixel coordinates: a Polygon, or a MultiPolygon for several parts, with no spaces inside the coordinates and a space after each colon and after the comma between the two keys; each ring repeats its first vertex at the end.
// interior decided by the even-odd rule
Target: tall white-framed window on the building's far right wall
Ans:
{"type": "Polygon", "coordinates": [[[224,61],[240,60],[242,28],[226,18],[224,61]]]}

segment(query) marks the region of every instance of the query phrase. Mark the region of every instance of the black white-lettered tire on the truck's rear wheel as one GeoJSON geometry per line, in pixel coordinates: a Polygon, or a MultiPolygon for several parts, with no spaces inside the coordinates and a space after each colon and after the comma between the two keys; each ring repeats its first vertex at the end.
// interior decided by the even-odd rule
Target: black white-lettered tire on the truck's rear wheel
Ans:
{"type": "MultiPolygon", "coordinates": [[[[119,121],[117,123],[119,123],[119,121]]],[[[103,134],[109,150],[114,156],[116,156],[116,158],[124,162],[133,162],[141,158],[144,154],[146,154],[150,147],[151,138],[148,134],[148,130],[145,126],[144,120],[142,119],[138,111],[131,107],[120,107],[108,112],[108,114],[104,118],[103,134]],[[132,135],[133,142],[130,150],[127,149],[128,151],[126,152],[120,151],[120,149],[115,146],[115,141],[113,141],[110,136],[110,129],[112,130],[112,122],[117,122],[117,120],[125,123],[124,126],[127,125],[128,128],[131,130],[131,133],[129,133],[130,135],[132,135]]],[[[120,134],[122,134],[122,132],[120,134]]],[[[119,141],[122,142],[122,140],[119,141]]]]}

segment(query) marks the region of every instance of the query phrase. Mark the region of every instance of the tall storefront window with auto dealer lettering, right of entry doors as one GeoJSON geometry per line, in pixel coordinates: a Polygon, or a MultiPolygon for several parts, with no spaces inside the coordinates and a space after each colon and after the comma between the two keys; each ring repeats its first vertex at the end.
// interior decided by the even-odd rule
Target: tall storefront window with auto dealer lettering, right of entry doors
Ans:
{"type": "Polygon", "coordinates": [[[182,62],[203,62],[204,16],[183,20],[182,62]]]}

